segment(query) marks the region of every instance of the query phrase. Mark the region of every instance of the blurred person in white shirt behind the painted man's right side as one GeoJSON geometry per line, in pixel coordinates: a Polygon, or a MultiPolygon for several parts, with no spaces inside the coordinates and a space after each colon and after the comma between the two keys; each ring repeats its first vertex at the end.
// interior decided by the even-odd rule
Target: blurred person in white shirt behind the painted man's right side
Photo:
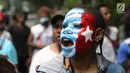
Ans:
{"type": "MultiPolygon", "coordinates": [[[[118,29],[114,26],[110,26],[108,23],[111,18],[111,13],[110,9],[108,6],[105,4],[99,5],[98,6],[99,11],[101,12],[102,16],[104,17],[105,20],[105,36],[104,36],[104,41],[103,41],[103,55],[106,59],[117,63],[116,60],[116,52],[115,52],[115,47],[117,46],[117,33],[118,29]]],[[[96,50],[98,53],[100,52],[99,46],[96,50]]]]}

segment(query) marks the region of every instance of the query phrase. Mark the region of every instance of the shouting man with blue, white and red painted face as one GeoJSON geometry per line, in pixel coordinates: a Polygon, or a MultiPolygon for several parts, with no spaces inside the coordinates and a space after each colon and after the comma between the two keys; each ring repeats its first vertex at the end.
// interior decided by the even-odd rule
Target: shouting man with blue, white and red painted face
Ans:
{"type": "Polygon", "coordinates": [[[71,9],[62,24],[62,52],[37,66],[37,73],[124,73],[120,65],[95,52],[102,45],[104,24],[97,9],[71,9]]]}

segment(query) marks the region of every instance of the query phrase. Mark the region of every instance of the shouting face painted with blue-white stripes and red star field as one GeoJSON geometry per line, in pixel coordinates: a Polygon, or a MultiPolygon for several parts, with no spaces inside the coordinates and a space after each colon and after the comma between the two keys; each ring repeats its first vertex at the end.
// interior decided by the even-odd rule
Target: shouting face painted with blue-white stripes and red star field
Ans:
{"type": "Polygon", "coordinates": [[[82,56],[92,47],[95,17],[82,8],[70,10],[63,21],[61,47],[65,57],[82,56]]]}

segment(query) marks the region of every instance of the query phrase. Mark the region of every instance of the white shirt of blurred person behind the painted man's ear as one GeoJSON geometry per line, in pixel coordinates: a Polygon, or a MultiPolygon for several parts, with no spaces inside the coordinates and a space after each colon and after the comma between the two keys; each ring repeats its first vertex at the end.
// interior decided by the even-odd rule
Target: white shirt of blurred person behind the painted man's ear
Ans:
{"type": "MultiPolygon", "coordinates": [[[[110,34],[109,37],[112,40],[117,40],[117,34],[118,34],[118,29],[114,26],[109,26],[110,29],[110,34]]],[[[102,52],[103,52],[103,56],[108,59],[109,61],[112,61],[114,63],[117,63],[117,59],[116,59],[116,54],[115,54],[115,50],[114,50],[114,46],[112,45],[112,42],[110,39],[108,39],[108,37],[104,36],[104,41],[102,44],[102,52]]],[[[97,47],[96,50],[97,53],[100,53],[100,48],[99,46],[97,47]]]]}

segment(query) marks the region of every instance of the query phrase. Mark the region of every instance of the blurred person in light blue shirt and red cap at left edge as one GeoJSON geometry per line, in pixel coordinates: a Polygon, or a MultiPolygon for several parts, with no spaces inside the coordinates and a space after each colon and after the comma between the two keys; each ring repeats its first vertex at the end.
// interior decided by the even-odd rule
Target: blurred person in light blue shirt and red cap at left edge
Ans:
{"type": "Polygon", "coordinates": [[[17,52],[11,41],[11,35],[4,27],[4,15],[0,12],[0,54],[7,56],[15,65],[18,64],[17,52]]]}

